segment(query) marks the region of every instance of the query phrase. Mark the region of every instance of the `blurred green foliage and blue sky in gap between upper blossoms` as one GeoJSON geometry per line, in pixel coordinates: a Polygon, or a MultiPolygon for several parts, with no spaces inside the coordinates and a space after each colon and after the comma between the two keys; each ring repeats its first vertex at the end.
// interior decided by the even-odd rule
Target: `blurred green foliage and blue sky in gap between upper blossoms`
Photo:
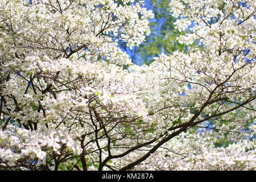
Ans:
{"type": "Polygon", "coordinates": [[[126,51],[133,63],[150,64],[153,57],[160,53],[170,54],[177,49],[185,51],[187,48],[176,40],[180,32],[175,30],[175,19],[170,15],[170,0],[146,0],[146,8],[152,10],[155,18],[150,20],[151,34],[139,46],[130,50],[126,43],[120,42],[120,47],[126,51]]]}

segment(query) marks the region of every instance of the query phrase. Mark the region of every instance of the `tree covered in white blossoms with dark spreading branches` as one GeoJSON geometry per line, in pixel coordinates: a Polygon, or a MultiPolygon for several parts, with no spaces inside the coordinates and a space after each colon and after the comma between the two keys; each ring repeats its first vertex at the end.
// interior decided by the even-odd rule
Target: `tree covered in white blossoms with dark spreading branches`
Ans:
{"type": "Polygon", "coordinates": [[[143,5],[0,0],[0,169],[255,169],[256,2],[172,0],[198,47],[138,67],[143,5]]]}

